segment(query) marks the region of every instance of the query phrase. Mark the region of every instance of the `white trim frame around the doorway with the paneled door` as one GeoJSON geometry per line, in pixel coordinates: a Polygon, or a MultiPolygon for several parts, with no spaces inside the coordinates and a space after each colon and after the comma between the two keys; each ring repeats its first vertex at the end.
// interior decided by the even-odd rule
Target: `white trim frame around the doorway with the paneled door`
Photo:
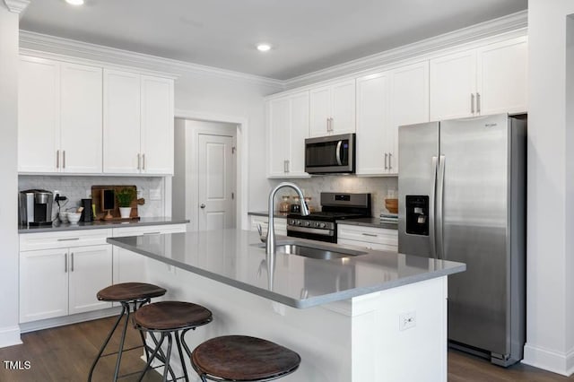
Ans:
{"type": "MultiPolygon", "coordinates": [[[[245,155],[248,152],[248,119],[245,117],[236,117],[236,116],[228,116],[224,114],[215,114],[215,113],[204,113],[200,111],[193,111],[193,110],[181,110],[176,109],[174,113],[174,124],[175,118],[178,119],[188,119],[194,120],[198,122],[219,122],[219,123],[228,123],[235,125],[235,142],[236,142],[236,157],[235,157],[235,190],[236,190],[236,211],[235,211],[235,225],[238,229],[241,230],[248,230],[249,222],[248,222],[248,155],[245,155]]],[[[213,134],[213,130],[209,130],[208,133],[204,129],[194,129],[192,133],[192,143],[194,147],[197,144],[197,135],[200,133],[207,133],[213,134]]],[[[186,161],[191,159],[192,166],[192,174],[197,173],[197,161],[196,158],[189,158],[187,157],[186,153],[186,161]]],[[[187,179],[187,178],[186,178],[187,179]]],[[[166,195],[171,195],[171,181],[166,182],[170,183],[169,190],[166,190],[166,195]]],[[[187,183],[187,180],[186,180],[187,183]]],[[[196,187],[186,188],[191,190],[191,201],[189,204],[186,204],[186,214],[187,216],[192,216],[188,213],[191,212],[190,208],[192,205],[198,204],[198,195],[196,187]]],[[[171,206],[169,211],[171,211],[171,206]]],[[[197,221],[190,221],[189,227],[191,230],[197,230],[198,224],[197,221]]]]}

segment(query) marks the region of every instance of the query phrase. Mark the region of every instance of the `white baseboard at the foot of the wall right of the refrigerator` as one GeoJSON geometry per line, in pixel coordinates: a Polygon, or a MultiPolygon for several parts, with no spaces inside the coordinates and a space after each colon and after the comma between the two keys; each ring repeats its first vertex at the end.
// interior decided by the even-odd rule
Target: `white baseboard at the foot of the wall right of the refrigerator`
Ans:
{"type": "Polygon", "coordinates": [[[574,373],[574,349],[555,352],[526,343],[522,363],[569,377],[574,373]]]}

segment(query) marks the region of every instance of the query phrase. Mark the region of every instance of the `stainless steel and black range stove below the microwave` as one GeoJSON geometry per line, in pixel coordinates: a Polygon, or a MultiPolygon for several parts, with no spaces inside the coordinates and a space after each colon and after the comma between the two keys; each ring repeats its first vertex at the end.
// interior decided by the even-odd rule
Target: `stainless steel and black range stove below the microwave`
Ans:
{"type": "Polygon", "coordinates": [[[287,236],[337,242],[337,220],[370,217],[370,194],[322,192],[321,211],[287,215],[287,236]]]}

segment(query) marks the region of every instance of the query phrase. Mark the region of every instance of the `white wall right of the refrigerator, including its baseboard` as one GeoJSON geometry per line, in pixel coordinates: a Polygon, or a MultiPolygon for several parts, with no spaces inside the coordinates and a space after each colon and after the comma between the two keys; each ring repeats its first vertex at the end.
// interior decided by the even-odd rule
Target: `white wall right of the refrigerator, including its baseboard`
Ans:
{"type": "MultiPolygon", "coordinates": [[[[572,133],[566,117],[571,0],[528,3],[528,225],[525,363],[574,372],[572,133]],[[568,164],[570,163],[570,164],[568,164]]],[[[570,33],[572,30],[570,30],[570,33]]],[[[571,54],[570,54],[571,55],[571,54]]],[[[570,75],[572,61],[570,60],[570,75]]],[[[570,83],[572,82],[570,78],[570,83]]],[[[569,91],[569,108],[572,108],[569,91]]]]}

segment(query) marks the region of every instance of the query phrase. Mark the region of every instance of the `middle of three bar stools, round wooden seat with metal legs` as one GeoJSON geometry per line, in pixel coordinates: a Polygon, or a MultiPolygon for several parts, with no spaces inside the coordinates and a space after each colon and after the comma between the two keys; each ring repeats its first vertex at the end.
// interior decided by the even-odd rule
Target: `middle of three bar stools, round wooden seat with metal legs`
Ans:
{"type": "Polygon", "coordinates": [[[140,330],[140,333],[147,332],[155,343],[155,348],[152,350],[150,357],[148,357],[145,369],[139,378],[141,381],[148,369],[151,369],[152,360],[158,359],[163,362],[163,380],[167,381],[168,372],[170,373],[171,380],[185,378],[187,376],[186,362],[181,351],[181,345],[187,355],[191,357],[191,352],[187,346],[185,335],[189,330],[196,330],[198,326],[204,326],[212,321],[212,312],[202,307],[201,305],[193,304],[191,302],[182,301],[161,301],[154,302],[139,309],[134,314],[135,327],[140,330]],[[155,334],[159,334],[160,338],[156,338],[155,334]],[[183,377],[176,378],[173,369],[170,367],[171,347],[173,344],[172,335],[176,337],[178,345],[179,360],[181,360],[181,367],[183,369],[183,377]],[[168,350],[166,354],[161,351],[161,344],[168,338],[168,350]]]}

